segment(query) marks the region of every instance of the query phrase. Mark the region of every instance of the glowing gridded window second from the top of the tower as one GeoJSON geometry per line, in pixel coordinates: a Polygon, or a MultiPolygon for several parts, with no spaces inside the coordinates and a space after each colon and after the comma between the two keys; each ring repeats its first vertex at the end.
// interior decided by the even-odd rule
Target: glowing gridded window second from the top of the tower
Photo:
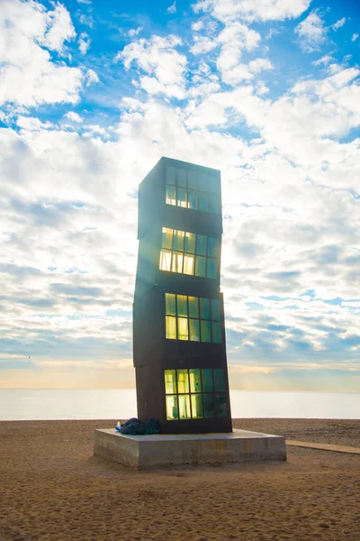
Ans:
{"type": "Polygon", "coordinates": [[[218,239],[163,227],[160,271],[213,279],[218,275],[218,261],[218,239]]]}

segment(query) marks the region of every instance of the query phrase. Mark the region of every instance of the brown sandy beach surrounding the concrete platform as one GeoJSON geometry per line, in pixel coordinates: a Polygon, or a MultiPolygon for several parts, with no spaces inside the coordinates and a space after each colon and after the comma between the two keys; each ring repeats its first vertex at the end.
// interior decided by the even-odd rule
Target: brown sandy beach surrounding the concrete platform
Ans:
{"type": "MultiPolygon", "coordinates": [[[[0,422],[0,540],[360,540],[360,455],[288,446],[286,463],[134,472],[93,456],[108,421],[0,422]]],[[[360,447],[360,421],[238,419],[360,447]]]]}

